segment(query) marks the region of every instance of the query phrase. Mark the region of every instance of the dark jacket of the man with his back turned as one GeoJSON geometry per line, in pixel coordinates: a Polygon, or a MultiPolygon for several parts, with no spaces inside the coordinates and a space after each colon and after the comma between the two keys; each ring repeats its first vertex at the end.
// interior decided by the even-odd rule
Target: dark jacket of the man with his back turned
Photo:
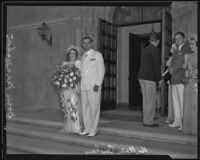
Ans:
{"type": "Polygon", "coordinates": [[[141,53],[141,63],[138,78],[158,82],[161,80],[160,52],[150,44],[141,53]]]}

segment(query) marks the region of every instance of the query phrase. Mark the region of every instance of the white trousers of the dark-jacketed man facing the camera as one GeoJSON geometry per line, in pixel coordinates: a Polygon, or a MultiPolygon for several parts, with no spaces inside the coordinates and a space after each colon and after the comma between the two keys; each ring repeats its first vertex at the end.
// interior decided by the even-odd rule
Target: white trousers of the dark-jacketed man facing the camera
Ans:
{"type": "Polygon", "coordinates": [[[183,118],[183,93],[184,85],[176,84],[172,85],[172,99],[174,108],[174,124],[182,127],[183,118]]]}

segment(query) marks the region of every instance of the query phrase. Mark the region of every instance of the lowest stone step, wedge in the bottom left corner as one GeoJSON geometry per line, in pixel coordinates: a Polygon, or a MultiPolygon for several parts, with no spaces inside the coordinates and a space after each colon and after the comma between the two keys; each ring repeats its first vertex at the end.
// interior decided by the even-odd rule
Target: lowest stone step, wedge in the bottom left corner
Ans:
{"type": "Polygon", "coordinates": [[[85,146],[59,143],[27,135],[8,134],[7,139],[7,154],[16,154],[16,152],[23,154],[79,154],[90,150],[89,147],[85,146]]]}

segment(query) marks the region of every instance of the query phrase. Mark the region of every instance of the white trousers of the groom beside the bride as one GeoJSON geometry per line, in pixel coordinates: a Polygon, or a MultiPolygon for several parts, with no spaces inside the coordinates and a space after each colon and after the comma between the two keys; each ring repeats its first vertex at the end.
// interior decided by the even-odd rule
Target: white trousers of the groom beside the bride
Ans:
{"type": "Polygon", "coordinates": [[[82,90],[82,112],[85,132],[96,133],[100,114],[101,89],[82,90]]]}

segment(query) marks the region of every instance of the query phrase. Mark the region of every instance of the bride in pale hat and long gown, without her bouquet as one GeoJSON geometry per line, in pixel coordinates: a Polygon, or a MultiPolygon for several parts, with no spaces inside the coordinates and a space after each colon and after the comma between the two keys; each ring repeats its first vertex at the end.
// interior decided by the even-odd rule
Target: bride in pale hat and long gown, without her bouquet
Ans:
{"type": "MultiPolygon", "coordinates": [[[[80,60],[78,60],[79,49],[76,46],[70,46],[67,49],[66,61],[62,66],[76,67],[80,69],[80,60]]],[[[80,133],[82,116],[80,106],[80,83],[74,88],[67,87],[60,90],[61,102],[64,111],[64,126],[60,132],[80,133]]]]}

